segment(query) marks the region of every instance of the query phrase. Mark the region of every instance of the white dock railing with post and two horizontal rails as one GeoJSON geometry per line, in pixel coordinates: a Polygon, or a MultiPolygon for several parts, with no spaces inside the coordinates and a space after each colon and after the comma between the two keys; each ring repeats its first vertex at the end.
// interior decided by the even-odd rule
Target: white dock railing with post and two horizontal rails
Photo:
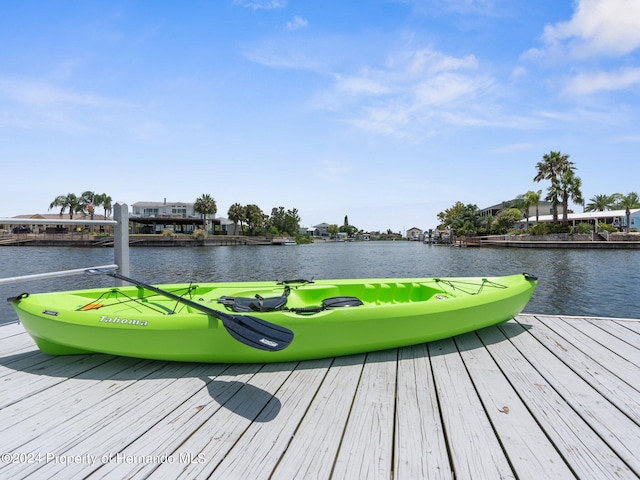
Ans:
{"type": "MultiPolygon", "coordinates": [[[[0,225],[113,225],[113,260],[114,265],[86,267],[59,272],[48,272],[35,275],[0,278],[0,285],[25,282],[43,278],[78,275],[92,268],[117,268],[124,275],[129,275],[129,207],[126,203],[116,203],[113,207],[113,220],[71,220],[45,218],[0,218],[0,225]]],[[[125,282],[116,279],[116,286],[125,282]]]]}

